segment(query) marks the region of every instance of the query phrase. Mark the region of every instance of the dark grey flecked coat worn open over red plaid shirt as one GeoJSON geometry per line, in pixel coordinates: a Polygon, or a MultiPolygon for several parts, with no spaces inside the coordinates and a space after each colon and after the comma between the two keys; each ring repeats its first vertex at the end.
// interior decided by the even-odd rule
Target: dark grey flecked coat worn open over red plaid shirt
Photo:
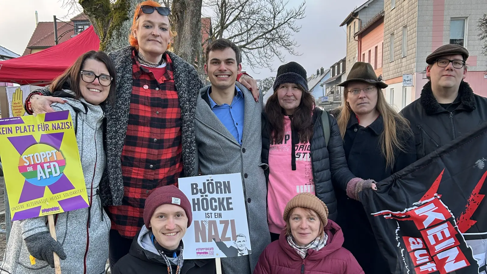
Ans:
{"type": "MultiPolygon", "coordinates": [[[[115,102],[111,105],[107,101],[105,109],[107,167],[100,182],[104,206],[121,205],[124,196],[121,156],[129,123],[133,81],[132,51],[133,47],[127,46],[108,54],[115,64],[117,77],[115,102]]],[[[167,54],[172,60],[174,82],[181,107],[184,174],[193,176],[195,165],[194,111],[196,97],[200,88],[203,87],[203,83],[193,66],[172,52],[168,51],[167,54]]],[[[51,96],[49,90],[33,92],[51,96]]]]}

